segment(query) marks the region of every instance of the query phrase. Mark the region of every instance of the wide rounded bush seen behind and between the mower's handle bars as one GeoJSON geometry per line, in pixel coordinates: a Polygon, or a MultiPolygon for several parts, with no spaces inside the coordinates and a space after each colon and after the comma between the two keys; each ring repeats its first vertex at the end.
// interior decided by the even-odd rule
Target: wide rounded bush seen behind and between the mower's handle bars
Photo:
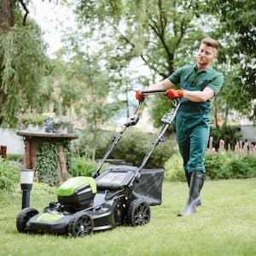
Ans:
{"type": "MultiPolygon", "coordinates": [[[[96,158],[102,159],[105,152],[108,150],[114,137],[113,132],[102,131],[99,132],[99,136],[96,140],[96,158]]],[[[143,162],[145,154],[148,153],[149,148],[152,146],[156,138],[156,134],[145,133],[137,130],[136,128],[130,128],[125,131],[121,142],[113,149],[113,152],[109,155],[109,158],[116,160],[125,160],[126,163],[133,166],[140,166],[143,162]]],[[[84,134],[77,145],[77,150],[81,154],[91,155],[92,138],[89,134],[84,134]]],[[[163,167],[166,160],[170,158],[176,149],[176,143],[172,139],[167,139],[165,143],[160,143],[155,149],[154,153],[148,160],[147,168],[159,168],[163,167]]]]}

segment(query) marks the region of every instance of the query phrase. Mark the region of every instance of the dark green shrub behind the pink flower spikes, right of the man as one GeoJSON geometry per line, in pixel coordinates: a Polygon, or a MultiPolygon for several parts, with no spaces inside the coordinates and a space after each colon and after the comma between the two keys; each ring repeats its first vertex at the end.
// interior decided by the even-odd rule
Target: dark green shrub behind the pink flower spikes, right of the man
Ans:
{"type": "Polygon", "coordinates": [[[218,148],[219,140],[222,139],[225,142],[225,148],[228,149],[228,143],[231,148],[235,148],[236,142],[241,139],[237,126],[222,125],[218,129],[211,126],[210,136],[213,137],[213,147],[218,148]]]}

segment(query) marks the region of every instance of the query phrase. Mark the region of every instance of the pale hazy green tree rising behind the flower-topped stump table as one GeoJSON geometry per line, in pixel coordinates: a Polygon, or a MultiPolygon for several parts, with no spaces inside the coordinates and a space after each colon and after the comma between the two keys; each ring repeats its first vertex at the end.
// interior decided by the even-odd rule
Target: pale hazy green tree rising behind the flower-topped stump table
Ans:
{"type": "Polygon", "coordinates": [[[83,148],[95,160],[97,145],[102,140],[102,125],[120,106],[115,102],[108,102],[108,73],[101,65],[101,51],[96,52],[90,48],[88,33],[90,32],[80,29],[70,30],[66,34],[63,38],[65,46],[58,53],[54,73],[61,108],[75,111],[83,130],[81,140],[86,142],[83,148]]]}

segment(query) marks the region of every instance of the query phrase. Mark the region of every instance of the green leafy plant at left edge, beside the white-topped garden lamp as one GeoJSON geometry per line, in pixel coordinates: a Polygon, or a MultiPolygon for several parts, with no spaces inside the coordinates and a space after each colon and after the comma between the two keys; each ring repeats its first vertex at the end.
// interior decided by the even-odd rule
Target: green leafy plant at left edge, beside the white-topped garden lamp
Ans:
{"type": "Polygon", "coordinates": [[[15,189],[19,182],[20,169],[17,164],[0,157],[0,191],[9,192],[15,189]]]}

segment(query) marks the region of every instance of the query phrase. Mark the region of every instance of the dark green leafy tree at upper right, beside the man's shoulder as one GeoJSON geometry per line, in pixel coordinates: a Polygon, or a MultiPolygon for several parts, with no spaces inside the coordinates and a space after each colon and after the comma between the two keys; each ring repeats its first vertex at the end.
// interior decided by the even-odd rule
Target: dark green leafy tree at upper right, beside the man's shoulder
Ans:
{"type": "Polygon", "coordinates": [[[256,120],[256,2],[247,0],[207,1],[206,9],[220,21],[219,38],[223,49],[219,60],[226,70],[224,98],[235,108],[256,120]]]}

